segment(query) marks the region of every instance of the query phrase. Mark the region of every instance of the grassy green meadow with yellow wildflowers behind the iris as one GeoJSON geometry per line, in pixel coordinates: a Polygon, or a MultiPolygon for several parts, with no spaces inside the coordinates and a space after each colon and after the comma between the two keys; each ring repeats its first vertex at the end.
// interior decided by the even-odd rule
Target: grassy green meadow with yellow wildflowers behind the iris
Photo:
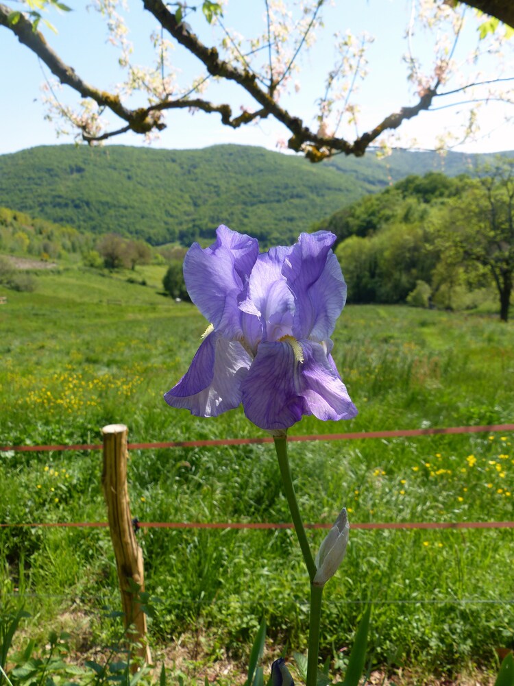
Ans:
{"type": "MultiPolygon", "coordinates": [[[[164,272],[71,265],[36,272],[32,293],[0,286],[0,445],[97,443],[110,423],[125,423],[131,442],[264,436],[241,409],[205,419],[165,405],[208,322],[159,294],[164,272]]],[[[304,418],[290,434],[513,421],[513,324],[487,312],[352,305],[334,358],[360,414],[304,418]]],[[[307,522],[332,523],[342,506],[353,522],[509,521],[513,442],[509,432],[292,442],[290,463],[307,522]]],[[[0,523],[106,521],[101,462],[99,451],[1,452],[0,523]]],[[[272,445],[132,451],[129,482],[141,521],[289,521],[272,445]]],[[[315,548],[324,535],[309,532],[315,548]]],[[[244,663],[263,615],[270,655],[306,650],[294,532],[138,536],[159,598],[152,650],[172,674],[174,646],[191,678],[219,660],[244,663]]],[[[496,670],[495,648],[514,641],[514,530],[353,530],[350,541],[323,606],[321,653],[336,671],[370,602],[373,665],[496,670]]],[[[108,530],[2,528],[0,564],[1,604],[31,615],[23,635],[44,641],[66,626],[80,654],[106,645],[104,608],[120,606],[108,530]]]]}

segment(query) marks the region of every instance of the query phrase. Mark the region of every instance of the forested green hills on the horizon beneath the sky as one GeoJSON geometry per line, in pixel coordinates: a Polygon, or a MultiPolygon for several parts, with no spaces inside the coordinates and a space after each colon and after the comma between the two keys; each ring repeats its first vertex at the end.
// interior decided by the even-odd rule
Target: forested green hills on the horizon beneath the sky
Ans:
{"type": "Polygon", "coordinates": [[[432,169],[459,174],[473,158],[395,152],[320,165],[259,147],[156,150],[53,145],[0,156],[0,206],[93,233],[163,244],[211,238],[218,224],[285,242],[390,180],[432,169]]]}

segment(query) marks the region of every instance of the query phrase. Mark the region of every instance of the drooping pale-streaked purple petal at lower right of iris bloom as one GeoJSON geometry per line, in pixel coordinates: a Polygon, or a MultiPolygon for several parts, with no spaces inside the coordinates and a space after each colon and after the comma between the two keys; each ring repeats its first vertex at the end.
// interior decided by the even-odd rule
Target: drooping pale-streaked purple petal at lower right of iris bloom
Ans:
{"type": "MultiPolygon", "coordinates": [[[[314,341],[301,341],[301,395],[308,414],[323,421],[351,419],[357,414],[347,388],[342,383],[334,361],[327,356],[326,347],[314,341]]],[[[306,413],[307,414],[307,413],[306,413]]]]}

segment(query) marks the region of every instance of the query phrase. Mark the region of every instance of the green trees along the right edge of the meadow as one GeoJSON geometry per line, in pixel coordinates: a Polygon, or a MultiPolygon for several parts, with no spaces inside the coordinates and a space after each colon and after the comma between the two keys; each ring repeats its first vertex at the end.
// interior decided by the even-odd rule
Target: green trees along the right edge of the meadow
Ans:
{"type": "Polygon", "coordinates": [[[514,160],[474,176],[408,176],[316,225],[336,233],[353,303],[473,307],[495,292],[509,318],[514,273],[514,160]]]}

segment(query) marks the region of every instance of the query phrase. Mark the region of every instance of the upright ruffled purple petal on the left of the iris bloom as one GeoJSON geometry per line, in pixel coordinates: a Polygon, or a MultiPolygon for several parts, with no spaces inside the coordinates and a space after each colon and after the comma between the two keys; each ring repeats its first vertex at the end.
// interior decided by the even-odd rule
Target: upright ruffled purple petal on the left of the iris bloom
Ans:
{"type": "Polygon", "coordinates": [[[242,335],[238,299],[258,255],[257,239],[222,224],[213,246],[203,249],[194,243],[185,256],[184,279],[191,300],[228,338],[242,335]]]}

